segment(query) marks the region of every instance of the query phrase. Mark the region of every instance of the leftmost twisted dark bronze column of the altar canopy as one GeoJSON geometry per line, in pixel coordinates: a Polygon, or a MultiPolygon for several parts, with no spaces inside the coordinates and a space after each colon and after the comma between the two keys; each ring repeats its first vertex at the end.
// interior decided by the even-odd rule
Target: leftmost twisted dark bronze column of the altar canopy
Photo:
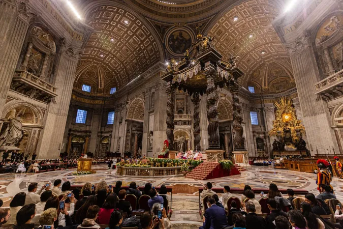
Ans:
{"type": "Polygon", "coordinates": [[[175,108],[175,87],[173,84],[167,85],[167,140],[169,150],[174,150],[174,108],[175,108]]]}

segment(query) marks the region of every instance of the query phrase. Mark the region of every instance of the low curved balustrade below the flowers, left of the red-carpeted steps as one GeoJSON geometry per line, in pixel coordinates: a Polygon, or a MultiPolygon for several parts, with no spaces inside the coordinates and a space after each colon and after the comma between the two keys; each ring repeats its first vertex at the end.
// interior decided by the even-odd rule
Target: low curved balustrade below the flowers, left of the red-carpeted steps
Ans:
{"type": "MultiPolygon", "coordinates": [[[[194,166],[189,166],[193,168],[194,166]]],[[[144,177],[162,177],[175,176],[181,174],[181,166],[176,167],[124,167],[117,166],[117,175],[120,176],[144,176],[144,177]]]]}

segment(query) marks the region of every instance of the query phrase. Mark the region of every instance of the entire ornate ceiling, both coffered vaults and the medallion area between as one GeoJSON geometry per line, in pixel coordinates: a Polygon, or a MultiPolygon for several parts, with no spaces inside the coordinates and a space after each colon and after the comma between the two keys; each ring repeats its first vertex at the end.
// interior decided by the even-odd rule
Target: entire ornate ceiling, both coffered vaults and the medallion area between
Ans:
{"type": "Polygon", "coordinates": [[[94,28],[77,67],[76,88],[86,82],[92,92],[108,94],[169,55],[182,58],[199,32],[214,37],[225,60],[231,53],[239,56],[243,87],[254,86],[257,94],[295,87],[289,55],[272,26],[283,0],[75,1],[94,28]],[[184,47],[172,42],[180,34],[188,42],[184,47]]]}

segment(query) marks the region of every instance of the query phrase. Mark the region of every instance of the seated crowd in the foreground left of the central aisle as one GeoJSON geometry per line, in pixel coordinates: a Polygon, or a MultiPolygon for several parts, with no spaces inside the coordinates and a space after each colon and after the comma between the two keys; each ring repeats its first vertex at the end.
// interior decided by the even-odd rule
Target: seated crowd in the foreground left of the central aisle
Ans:
{"type": "Polygon", "coordinates": [[[30,183],[27,193],[17,193],[9,208],[0,208],[0,228],[36,229],[49,225],[54,229],[100,229],[100,225],[108,225],[108,229],[120,226],[170,229],[172,226],[167,217],[170,196],[165,185],[158,193],[147,183],[141,193],[135,182],[128,190],[121,188],[121,181],[117,181],[114,187],[104,181],[96,186],[85,183],[81,189],[73,190],[69,181],[61,183],[57,179],[53,185],[45,184],[39,190],[37,183],[30,183]],[[137,199],[142,194],[149,195],[147,205],[150,211],[133,211],[138,206],[133,208],[126,201],[127,194],[135,195],[137,199]],[[133,214],[135,212],[142,212],[140,219],[133,214]]]}

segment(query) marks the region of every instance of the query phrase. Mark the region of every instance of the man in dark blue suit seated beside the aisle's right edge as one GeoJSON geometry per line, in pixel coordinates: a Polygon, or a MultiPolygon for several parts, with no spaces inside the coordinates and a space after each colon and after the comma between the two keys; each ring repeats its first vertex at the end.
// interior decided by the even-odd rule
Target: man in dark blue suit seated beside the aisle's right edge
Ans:
{"type": "Polygon", "coordinates": [[[199,229],[219,229],[228,227],[228,221],[225,215],[225,209],[215,205],[213,196],[207,198],[207,204],[210,206],[204,214],[204,223],[199,229]]]}

